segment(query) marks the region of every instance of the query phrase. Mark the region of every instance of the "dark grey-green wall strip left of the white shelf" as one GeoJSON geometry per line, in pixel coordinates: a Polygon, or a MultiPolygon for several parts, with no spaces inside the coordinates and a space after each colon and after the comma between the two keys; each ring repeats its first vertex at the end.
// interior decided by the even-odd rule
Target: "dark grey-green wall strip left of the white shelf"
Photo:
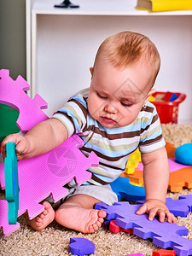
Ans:
{"type": "Polygon", "coordinates": [[[26,79],[26,1],[0,1],[0,69],[26,79]]]}

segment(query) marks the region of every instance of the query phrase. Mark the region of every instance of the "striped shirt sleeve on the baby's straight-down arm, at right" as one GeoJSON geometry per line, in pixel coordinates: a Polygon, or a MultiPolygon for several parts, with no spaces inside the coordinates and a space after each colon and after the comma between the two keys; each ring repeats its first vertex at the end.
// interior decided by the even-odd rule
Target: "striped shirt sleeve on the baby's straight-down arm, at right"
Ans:
{"type": "Polygon", "coordinates": [[[143,108],[143,112],[139,150],[142,153],[149,153],[165,147],[166,143],[162,136],[160,119],[154,105],[148,102],[147,106],[143,108]]]}

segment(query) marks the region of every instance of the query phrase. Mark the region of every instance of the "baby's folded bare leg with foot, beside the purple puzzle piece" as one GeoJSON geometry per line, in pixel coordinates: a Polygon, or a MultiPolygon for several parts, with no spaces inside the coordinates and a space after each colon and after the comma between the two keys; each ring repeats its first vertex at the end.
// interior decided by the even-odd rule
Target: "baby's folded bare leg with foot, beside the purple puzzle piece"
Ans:
{"type": "Polygon", "coordinates": [[[97,202],[101,201],[90,195],[73,195],[56,210],[55,220],[69,229],[93,233],[102,226],[106,217],[103,210],[93,209],[97,202]]]}

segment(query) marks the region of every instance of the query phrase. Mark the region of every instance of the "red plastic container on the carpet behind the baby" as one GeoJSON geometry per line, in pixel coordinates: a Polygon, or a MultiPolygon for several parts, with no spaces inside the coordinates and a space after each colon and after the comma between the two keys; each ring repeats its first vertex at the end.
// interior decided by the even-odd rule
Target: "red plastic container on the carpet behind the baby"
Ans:
{"type": "MultiPolygon", "coordinates": [[[[161,124],[177,124],[177,117],[178,117],[178,105],[184,101],[186,98],[186,95],[179,92],[173,92],[178,97],[173,102],[152,102],[157,109],[157,113],[160,117],[160,123],[161,124]]],[[[166,95],[166,92],[164,91],[156,91],[153,96],[159,96],[163,98],[166,95]]]]}

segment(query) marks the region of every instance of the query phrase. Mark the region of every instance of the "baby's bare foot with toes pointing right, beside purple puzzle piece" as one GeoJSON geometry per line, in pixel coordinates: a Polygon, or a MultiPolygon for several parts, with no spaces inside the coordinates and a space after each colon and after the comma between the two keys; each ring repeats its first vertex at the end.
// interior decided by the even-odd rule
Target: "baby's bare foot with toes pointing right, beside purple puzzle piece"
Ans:
{"type": "Polygon", "coordinates": [[[55,220],[67,227],[82,233],[93,233],[98,230],[106,217],[103,210],[82,207],[61,206],[55,212],[55,220]]]}

